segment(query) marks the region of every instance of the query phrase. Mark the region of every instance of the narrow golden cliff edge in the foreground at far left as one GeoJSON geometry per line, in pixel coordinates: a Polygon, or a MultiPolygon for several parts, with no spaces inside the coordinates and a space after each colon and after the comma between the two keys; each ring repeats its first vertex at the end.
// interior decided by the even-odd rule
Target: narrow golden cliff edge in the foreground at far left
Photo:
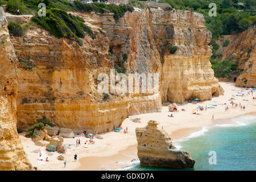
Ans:
{"type": "Polygon", "coordinates": [[[0,7],[0,171],[31,169],[16,129],[17,63],[0,7]]]}

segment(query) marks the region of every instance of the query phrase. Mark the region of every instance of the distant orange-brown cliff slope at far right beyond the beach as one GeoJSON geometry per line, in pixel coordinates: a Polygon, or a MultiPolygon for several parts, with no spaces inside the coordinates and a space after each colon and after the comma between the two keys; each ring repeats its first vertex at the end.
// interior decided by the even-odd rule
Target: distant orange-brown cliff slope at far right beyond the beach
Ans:
{"type": "Polygon", "coordinates": [[[236,86],[256,88],[256,27],[255,24],[238,35],[225,35],[216,42],[220,48],[216,51],[218,60],[228,59],[237,63],[236,86]],[[222,44],[229,40],[228,46],[222,44]],[[240,74],[241,73],[241,74],[240,74]]]}

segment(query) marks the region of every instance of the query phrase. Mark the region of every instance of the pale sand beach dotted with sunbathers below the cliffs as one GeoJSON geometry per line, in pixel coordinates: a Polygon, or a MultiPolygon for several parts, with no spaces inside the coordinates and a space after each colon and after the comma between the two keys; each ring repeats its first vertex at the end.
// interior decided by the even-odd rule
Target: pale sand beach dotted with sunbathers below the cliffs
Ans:
{"type": "Polygon", "coordinates": [[[184,102],[182,105],[178,105],[179,112],[172,113],[174,118],[168,117],[171,113],[168,111],[167,106],[163,106],[160,113],[139,114],[126,118],[122,123],[122,128],[125,129],[128,127],[128,134],[124,134],[123,132],[116,133],[114,131],[101,134],[104,139],[94,139],[96,144],[84,144],[88,140],[84,137],[76,137],[75,139],[65,138],[64,144],[76,144],[76,139],[80,138],[81,140],[81,146],[71,146],[68,148],[67,154],[64,154],[65,159],[67,159],[66,168],[64,168],[64,161],[56,159],[60,155],[57,152],[46,152],[44,147],[36,146],[30,138],[24,137],[23,134],[20,134],[20,139],[32,166],[38,167],[40,170],[110,170],[127,167],[130,166],[131,160],[138,159],[135,128],[146,126],[147,122],[151,119],[158,121],[160,127],[163,126],[164,130],[167,131],[173,140],[187,137],[189,134],[201,130],[203,126],[214,125],[216,123],[230,123],[230,118],[256,111],[256,100],[253,100],[256,92],[253,93],[253,96],[251,96],[251,93],[250,96],[247,96],[247,90],[234,86],[234,83],[220,82],[220,84],[225,90],[224,96],[214,97],[212,101],[203,101],[195,105],[184,102]],[[237,92],[241,90],[245,90],[243,92],[245,96],[236,96],[238,94],[237,92]],[[234,97],[236,98],[234,102],[238,103],[238,107],[232,108],[230,101],[228,101],[232,95],[236,96],[234,97]],[[199,111],[200,115],[191,114],[192,110],[196,109],[199,105],[205,107],[207,104],[216,104],[213,101],[218,101],[217,107],[215,107],[216,109],[199,111]],[[241,111],[239,102],[241,102],[242,106],[245,106],[245,111],[241,111]],[[228,104],[228,111],[225,111],[226,105],[219,105],[222,103],[228,104]],[[185,109],[185,111],[181,111],[181,109],[185,109]],[[214,114],[214,122],[211,121],[212,114],[214,114]],[[130,120],[132,118],[141,118],[142,122],[134,123],[130,120]],[[49,153],[53,154],[48,156],[49,162],[37,160],[39,154],[32,151],[39,148],[44,158],[49,153]],[[73,159],[75,154],[78,156],[77,162],[74,162],[73,159]]]}

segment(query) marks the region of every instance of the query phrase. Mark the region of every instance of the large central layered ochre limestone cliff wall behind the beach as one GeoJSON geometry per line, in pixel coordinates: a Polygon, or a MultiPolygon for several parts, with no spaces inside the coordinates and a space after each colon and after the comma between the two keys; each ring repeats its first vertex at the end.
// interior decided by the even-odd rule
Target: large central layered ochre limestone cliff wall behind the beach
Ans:
{"type": "Polygon", "coordinates": [[[19,59],[19,127],[45,115],[75,133],[102,133],[121,125],[127,115],[158,111],[163,101],[207,100],[223,92],[210,68],[211,34],[203,15],[135,8],[116,21],[113,14],[73,14],[97,35],[85,36],[82,47],[33,26],[11,38],[19,59]],[[172,55],[168,44],[177,47],[172,55]],[[158,73],[159,93],[109,94],[105,100],[96,79],[113,68],[158,73]]]}

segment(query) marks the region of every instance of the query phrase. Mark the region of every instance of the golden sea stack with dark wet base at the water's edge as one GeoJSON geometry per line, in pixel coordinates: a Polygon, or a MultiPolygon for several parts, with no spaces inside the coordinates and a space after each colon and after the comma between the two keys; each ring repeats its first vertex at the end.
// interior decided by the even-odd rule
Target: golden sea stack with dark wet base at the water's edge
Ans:
{"type": "Polygon", "coordinates": [[[142,166],[193,168],[195,160],[189,152],[177,149],[158,122],[150,120],[146,127],[135,130],[138,141],[138,157],[142,166]]]}

